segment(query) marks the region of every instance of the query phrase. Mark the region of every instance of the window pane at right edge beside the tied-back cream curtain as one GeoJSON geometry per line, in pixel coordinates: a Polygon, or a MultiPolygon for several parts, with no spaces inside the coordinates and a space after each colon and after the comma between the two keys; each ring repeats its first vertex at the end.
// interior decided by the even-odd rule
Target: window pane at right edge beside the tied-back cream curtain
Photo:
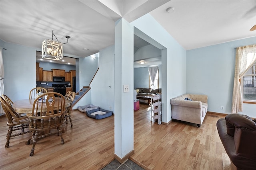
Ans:
{"type": "Polygon", "coordinates": [[[241,78],[241,85],[243,101],[256,103],[256,62],[241,78]]]}

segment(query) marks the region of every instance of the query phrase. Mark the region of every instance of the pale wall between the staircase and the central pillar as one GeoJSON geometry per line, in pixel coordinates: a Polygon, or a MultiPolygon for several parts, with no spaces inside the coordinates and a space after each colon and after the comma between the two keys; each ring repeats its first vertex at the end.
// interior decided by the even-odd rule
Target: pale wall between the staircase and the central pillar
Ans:
{"type": "Polygon", "coordinates": [[[100,50],[99,61],[99,70],[90,84],[91,104],[113,111],[114,45],[100,50]],[[108,86],[110,86],[110,88],[108,86]]]}

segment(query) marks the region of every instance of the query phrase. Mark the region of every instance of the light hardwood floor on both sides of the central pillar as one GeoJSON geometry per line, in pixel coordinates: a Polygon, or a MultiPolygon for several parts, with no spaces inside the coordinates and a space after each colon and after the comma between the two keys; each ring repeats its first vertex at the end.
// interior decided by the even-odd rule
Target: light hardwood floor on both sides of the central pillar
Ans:
{"type": "MultiPolygon", "coordinates": [[[[134,151],[130,159],[150,170],[230,170],[230,159],[218,136],[216,121],[224,115],[208,113],[200,128],[182,121],[169,125],[150,122],[150,107],[140,104],[134,111],[134,151]]],[[[6,117],[0,119],[0,169],[98,170],[114,160],[114,116],[95,120],[72,111],[72,122],[64,124],[64,145],[57,135],[25,145],[30,134],[12,137],[6,143],[6,117]]]]}

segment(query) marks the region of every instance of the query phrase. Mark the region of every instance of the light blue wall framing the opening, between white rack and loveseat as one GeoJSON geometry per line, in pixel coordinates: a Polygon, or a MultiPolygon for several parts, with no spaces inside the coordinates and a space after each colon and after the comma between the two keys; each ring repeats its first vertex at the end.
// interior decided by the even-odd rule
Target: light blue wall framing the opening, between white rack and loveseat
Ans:
{"type": "MultiPolygon", "coordinates": [[[[186,93],[186,50],[150,14],[131,24],[165,47],[161,49],[162,121],[168,123],[171,120],[170,99],[186,93]]],[[[154,45],[151,41],[148,42],[154,45]]]]}

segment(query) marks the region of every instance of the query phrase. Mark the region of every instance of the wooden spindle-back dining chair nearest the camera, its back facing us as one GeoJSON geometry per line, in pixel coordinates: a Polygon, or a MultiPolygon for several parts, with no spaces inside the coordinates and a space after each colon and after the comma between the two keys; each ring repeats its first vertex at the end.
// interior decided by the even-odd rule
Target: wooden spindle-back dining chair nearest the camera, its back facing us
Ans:
{"type": "Polygon", "coordinates": [[[65,98],[62,94],[48,92],[34,100],[32,113],[27,113],[27,117],[30,120],[29,129],[32,131],[30,156],[33,156],[35,145],[39,139],[58,134],[61,143],[64,144],[60,129],[60,125],[64,122],[64,114],[65,98]],[[57,131],[53,131],[52,129],[56,129],[57,131]]]}

